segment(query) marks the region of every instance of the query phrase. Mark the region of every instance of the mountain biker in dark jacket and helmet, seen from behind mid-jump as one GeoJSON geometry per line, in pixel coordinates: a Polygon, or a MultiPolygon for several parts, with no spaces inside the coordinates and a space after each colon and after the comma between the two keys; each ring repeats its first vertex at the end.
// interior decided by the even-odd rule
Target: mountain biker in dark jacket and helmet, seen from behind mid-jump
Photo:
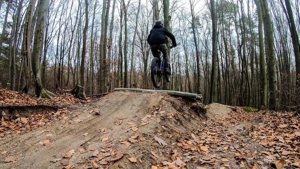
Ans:
{"type": "Polygon", "coordinates": [[[173,34],[171,34],[167,29],[163,28],[161,21],[156,21],[153,29],[148,35],[147,42],[150,45],[150,49],[153,57],[157,56],[157,50],[161,51],[164,59],[164,67],[166,74],[171,74],[169,69],[169,59],[167,56],[167,47],[165,45],[165,35],[172,40],[173,47],[176,47],[176,40],[173,34]]]}

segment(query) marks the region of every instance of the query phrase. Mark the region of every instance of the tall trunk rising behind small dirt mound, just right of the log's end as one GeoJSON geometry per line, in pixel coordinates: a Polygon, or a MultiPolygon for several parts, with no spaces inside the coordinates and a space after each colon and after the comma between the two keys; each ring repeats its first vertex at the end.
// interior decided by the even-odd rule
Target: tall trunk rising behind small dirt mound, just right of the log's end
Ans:
{"type": "Polygon", "coordinates": [[[211,63],[211,77],[210,77],[210,103],[214,101],[214,89],[215,89],[215,69],[216,69],[216,57],[217,57],[217,17],[215,13],[214,0],[210,0],[210,13],[212,20],[212,63],[211,63]]]}

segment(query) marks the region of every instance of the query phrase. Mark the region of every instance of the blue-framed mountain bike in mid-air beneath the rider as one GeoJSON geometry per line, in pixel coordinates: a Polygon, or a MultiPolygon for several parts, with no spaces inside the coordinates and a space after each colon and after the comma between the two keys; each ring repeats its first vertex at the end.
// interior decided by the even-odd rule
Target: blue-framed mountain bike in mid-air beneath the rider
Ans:
{"type": "MultiPolygon", "coordinates": [[[[174,47],[169,46],[167,48],[172,49],[174,47]]],[[[171,81],[171,75],[166,74],[164,71],[163,54],[160,51],[157,51],[157,56],[159,56],[159,57],[154,57],[151,61],[151,80],[152,80],[152,84],[155,88],[159,88],[161,86],[162,75],[164,75],[165,80],[167,82],[171,81]]],[[[170,66],[169,66],[169,69],[171,70],[170,66]]]]}

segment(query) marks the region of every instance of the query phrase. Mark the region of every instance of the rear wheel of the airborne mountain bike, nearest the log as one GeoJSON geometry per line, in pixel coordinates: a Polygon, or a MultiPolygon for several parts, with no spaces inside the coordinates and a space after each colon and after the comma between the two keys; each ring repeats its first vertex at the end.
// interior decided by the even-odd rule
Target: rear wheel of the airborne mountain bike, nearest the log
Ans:
{"type": "Polygon", "coordinates": [[[160,71],[160,60],[154,57],[151,61],[151,80],[155,88],[161,86],[162,78],[160,71]]]}

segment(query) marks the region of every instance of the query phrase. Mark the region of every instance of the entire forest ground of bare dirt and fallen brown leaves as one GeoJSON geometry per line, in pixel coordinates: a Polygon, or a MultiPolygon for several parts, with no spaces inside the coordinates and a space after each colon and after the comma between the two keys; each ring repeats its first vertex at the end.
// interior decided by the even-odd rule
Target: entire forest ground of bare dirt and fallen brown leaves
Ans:
{"type": "Polygon", "coordinates": [[[192,105],[155,92],[82,102],[0,89],[0,168],[299,168],[299,112],[192,105]]]}

